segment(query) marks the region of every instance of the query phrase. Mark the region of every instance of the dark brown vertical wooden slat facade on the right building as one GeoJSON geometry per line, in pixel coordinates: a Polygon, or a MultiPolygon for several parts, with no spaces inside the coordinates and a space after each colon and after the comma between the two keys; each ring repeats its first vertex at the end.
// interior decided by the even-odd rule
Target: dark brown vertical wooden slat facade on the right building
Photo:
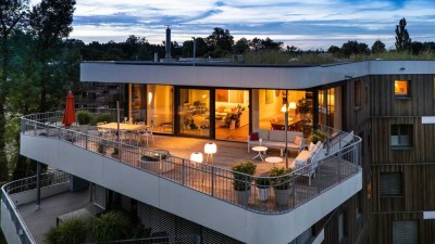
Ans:
{"type": "Polygon", "coordinates": [[[435,242],[435,220],[423,220],[423,211],[435,209],[435,125],[422,124],[422,116],[435,116],[434,86],[433,75],[370,77],[370,243],[393,243],[398,220],[417,220],[419,243],[435,242]],[[395,95],[395,80],[410,81],[409,98],[395,95]],[[391,125],[412,125],[411,146],[391,147],[391,125]],[[401,174],[401,194],[381,196],[384,172],[401,174]]]}

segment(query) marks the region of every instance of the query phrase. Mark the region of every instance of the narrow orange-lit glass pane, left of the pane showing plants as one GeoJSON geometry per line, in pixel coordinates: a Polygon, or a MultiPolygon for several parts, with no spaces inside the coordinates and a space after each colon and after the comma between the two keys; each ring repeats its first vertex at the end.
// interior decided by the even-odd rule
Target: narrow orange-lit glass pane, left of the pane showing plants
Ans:
{"type": "Polygon", "coordinates": [[[173,133],[174,95],[173,86],[147,86],[147,125],[153,125],[156,132],[173,133]]]}

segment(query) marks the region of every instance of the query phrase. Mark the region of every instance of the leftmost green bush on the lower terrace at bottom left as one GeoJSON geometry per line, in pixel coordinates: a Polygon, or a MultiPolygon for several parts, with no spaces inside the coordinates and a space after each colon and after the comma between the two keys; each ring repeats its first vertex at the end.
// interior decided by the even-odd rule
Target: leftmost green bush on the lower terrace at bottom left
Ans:
{"type": "Polygon", "coordinates": [[[79,244],[86,242],[90,218],[71,218],[59,227],[52,227],[46,234],[46,244],[79,244]]]}

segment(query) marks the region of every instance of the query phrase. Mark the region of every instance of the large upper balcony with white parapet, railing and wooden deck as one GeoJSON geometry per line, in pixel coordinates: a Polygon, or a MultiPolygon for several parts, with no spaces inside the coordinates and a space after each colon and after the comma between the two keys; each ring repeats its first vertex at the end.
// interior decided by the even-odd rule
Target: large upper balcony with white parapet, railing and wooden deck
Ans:
{"type": "MultiPolygon", "coordinates": [[[[57,123],[61,119],[62,112],[23,117],[21,153],[243,242],[261,243],[274,236],[274,243],[288,243],[361,190],[361,140],[332,128],[323,127],[331,137],[327,155],[315,162],[316,177],[309,184],[304,175],[314,170],[310,166],[284,176],[291,193],[278,205],[273,191],[268,193],[268,201],[261,201],[249,180],[244,181],[250,187],[246,193],[249,201],[236,200],[235,176],[250,176],[237,175],[229,166],[252,157],[245,143],[216,142],[214,165],[199,165],[186,158],[194,151],[202,151],[204,140],[159,137],[152,149],[138,147],[62,128],[57,123]],[[101,143],[107,152],[116,147],[119,155],[99,153],[101,143]],[[159,155],[152,151],[156,149],[166,149],[171,154],[159,155]],[[139,158],[150,153],[163,159],[144,167],[139,158]]],[[[268,163],[256,165],[260,172],[271,167],[268,163]]]]}

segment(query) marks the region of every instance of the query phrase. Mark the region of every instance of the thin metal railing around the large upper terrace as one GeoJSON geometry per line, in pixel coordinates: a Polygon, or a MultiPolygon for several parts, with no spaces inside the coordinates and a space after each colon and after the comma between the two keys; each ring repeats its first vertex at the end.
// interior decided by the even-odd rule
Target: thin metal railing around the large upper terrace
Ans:
{"type": "MultiPolygon", "coordinates": [[[[52,115],[62,118],[58,112],[52,115]]],[[[323,157],[310,160],[306,167],[299,167],[287,175],[270,177],[250,176],[216,165],[198,164],[162,151],[138,147],[62,128],[58,123],[47,124],[35,119],[41,117],[53,120],[47,115],[24,116],[22,132],[67,141],[74,146],[99,153],[212,197],[262,214],[290,211],[361,170],[359,166],[361,139],[324,126],[321,126],[321,129],[328,131],[331,137],[325,142],[326,154],[323,157]],[[110,155],[109,152],[113,151],[117,154],[110,155]],[[311,184],[306,177],[308,175],[315,177],[311,184]],[[259,181],[263,184],[266,182],[266,185],[257,188],[256,182],[259,181]],[[236,184],[239,190],[246,189],[246,191],[235,191],[236,184]],[[240,184],[245,187],[240,188],[240,184]]]]}

